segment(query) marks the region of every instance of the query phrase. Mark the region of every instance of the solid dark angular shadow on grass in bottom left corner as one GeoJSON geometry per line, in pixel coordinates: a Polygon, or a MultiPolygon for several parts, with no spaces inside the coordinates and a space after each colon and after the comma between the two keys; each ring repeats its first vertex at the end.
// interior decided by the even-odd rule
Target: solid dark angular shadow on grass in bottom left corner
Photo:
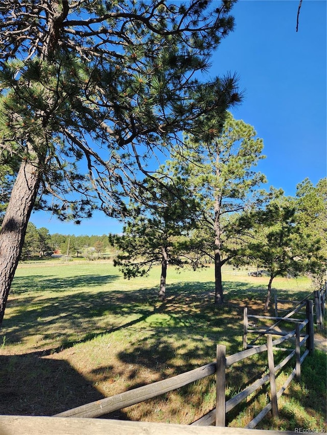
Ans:
{"type": "Polygon", "coordinates": [[[0,414],[51,416],[103,398],[66,361],[0,356],[0,414]]]}

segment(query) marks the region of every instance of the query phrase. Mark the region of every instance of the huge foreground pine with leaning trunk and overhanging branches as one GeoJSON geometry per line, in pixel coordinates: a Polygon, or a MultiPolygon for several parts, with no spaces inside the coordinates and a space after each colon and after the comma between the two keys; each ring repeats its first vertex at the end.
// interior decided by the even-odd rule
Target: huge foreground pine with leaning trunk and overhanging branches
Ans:
{"type": "Polygon", "coordinates": [[[122,213],[154,153],[240,101],[234,76],[196,78],[233,28],[232,4],[1,2],[0,146],[20,167],[0,233],[0,323],[36,204],[76,222],[122,213]]]}

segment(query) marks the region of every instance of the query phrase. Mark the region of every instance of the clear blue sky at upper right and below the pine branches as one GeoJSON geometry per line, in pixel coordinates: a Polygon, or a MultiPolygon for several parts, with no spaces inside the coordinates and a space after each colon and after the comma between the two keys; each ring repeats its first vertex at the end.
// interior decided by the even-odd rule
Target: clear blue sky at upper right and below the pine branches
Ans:
{"type": "MultiPolygon", "coordinates": [[[[215,2],[215,0],[214,0],[215,2]]],[[[268,186],[294,195],[309,177],[326,176],[327,48],[324,0],[240,0],[233,8],[236,29],[214,54],[211,76],[237,72],[245,91],[236,119],[255,127],[267,158],[259,170],[268,186]]],[[[122,224],[97,212],[81,225],[36,212],[31,222],[51,234],[119,233],[122,224]]]]}

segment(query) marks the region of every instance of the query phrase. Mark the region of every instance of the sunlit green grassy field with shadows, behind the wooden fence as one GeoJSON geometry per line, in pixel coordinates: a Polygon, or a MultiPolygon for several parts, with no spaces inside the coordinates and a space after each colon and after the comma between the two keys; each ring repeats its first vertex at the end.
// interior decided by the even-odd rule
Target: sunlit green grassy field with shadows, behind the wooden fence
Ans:
{"type": "MultiPolygon", "coordinates": [[[[268,277],[226,267],[226,302],[215,308],[213,272],[170,269],[167,300],[160,302],[159,268],[128,281],[110,263],[19,267],[0,334],[0,394],[6,397],[0,414],[53,415],[212,362],[217,343],[226,345],[227,355],[240,351],[243,307],[262,313],[268,277]]],[[[312,291],[304,277],[275,278],[273,287],[278,297],[295,300],[312,291]]],[[[227,373],[228,394],[266,366],[256,355],[227,373]]],[[[324,352],[317,350],[314,362],[307,357],[301,382],[281,399],[279,419],[260,427],[324,428],[325,367],[324,352]]],[[[215,406],[215,388],[208,377],[106,417],[189,424],[215,406]]],[[[239,414],[228,415],[228,424],[245,426],[267,394],[250,398],[239,414]]]]}

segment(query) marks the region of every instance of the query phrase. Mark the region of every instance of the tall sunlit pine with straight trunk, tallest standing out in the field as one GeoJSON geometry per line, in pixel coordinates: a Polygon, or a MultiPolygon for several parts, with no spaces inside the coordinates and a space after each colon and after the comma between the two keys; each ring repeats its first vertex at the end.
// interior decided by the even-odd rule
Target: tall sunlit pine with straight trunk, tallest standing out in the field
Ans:
{"type": "Polygon", "coordinates": [[[244,253],[242,237],[248,223],[244,225],[239,215],[265,198],[259,191],[265,176],[254,171],[264,158],[263,141],[251,125],[227,113],[224,118],[203,119],[186,143],[189,150],[172,164],[185,174],[197,201],[198,229],[193,237],[198,239],[198,255],[215,264],[215,303],[220,304],[222,266],[244,253]]]}

